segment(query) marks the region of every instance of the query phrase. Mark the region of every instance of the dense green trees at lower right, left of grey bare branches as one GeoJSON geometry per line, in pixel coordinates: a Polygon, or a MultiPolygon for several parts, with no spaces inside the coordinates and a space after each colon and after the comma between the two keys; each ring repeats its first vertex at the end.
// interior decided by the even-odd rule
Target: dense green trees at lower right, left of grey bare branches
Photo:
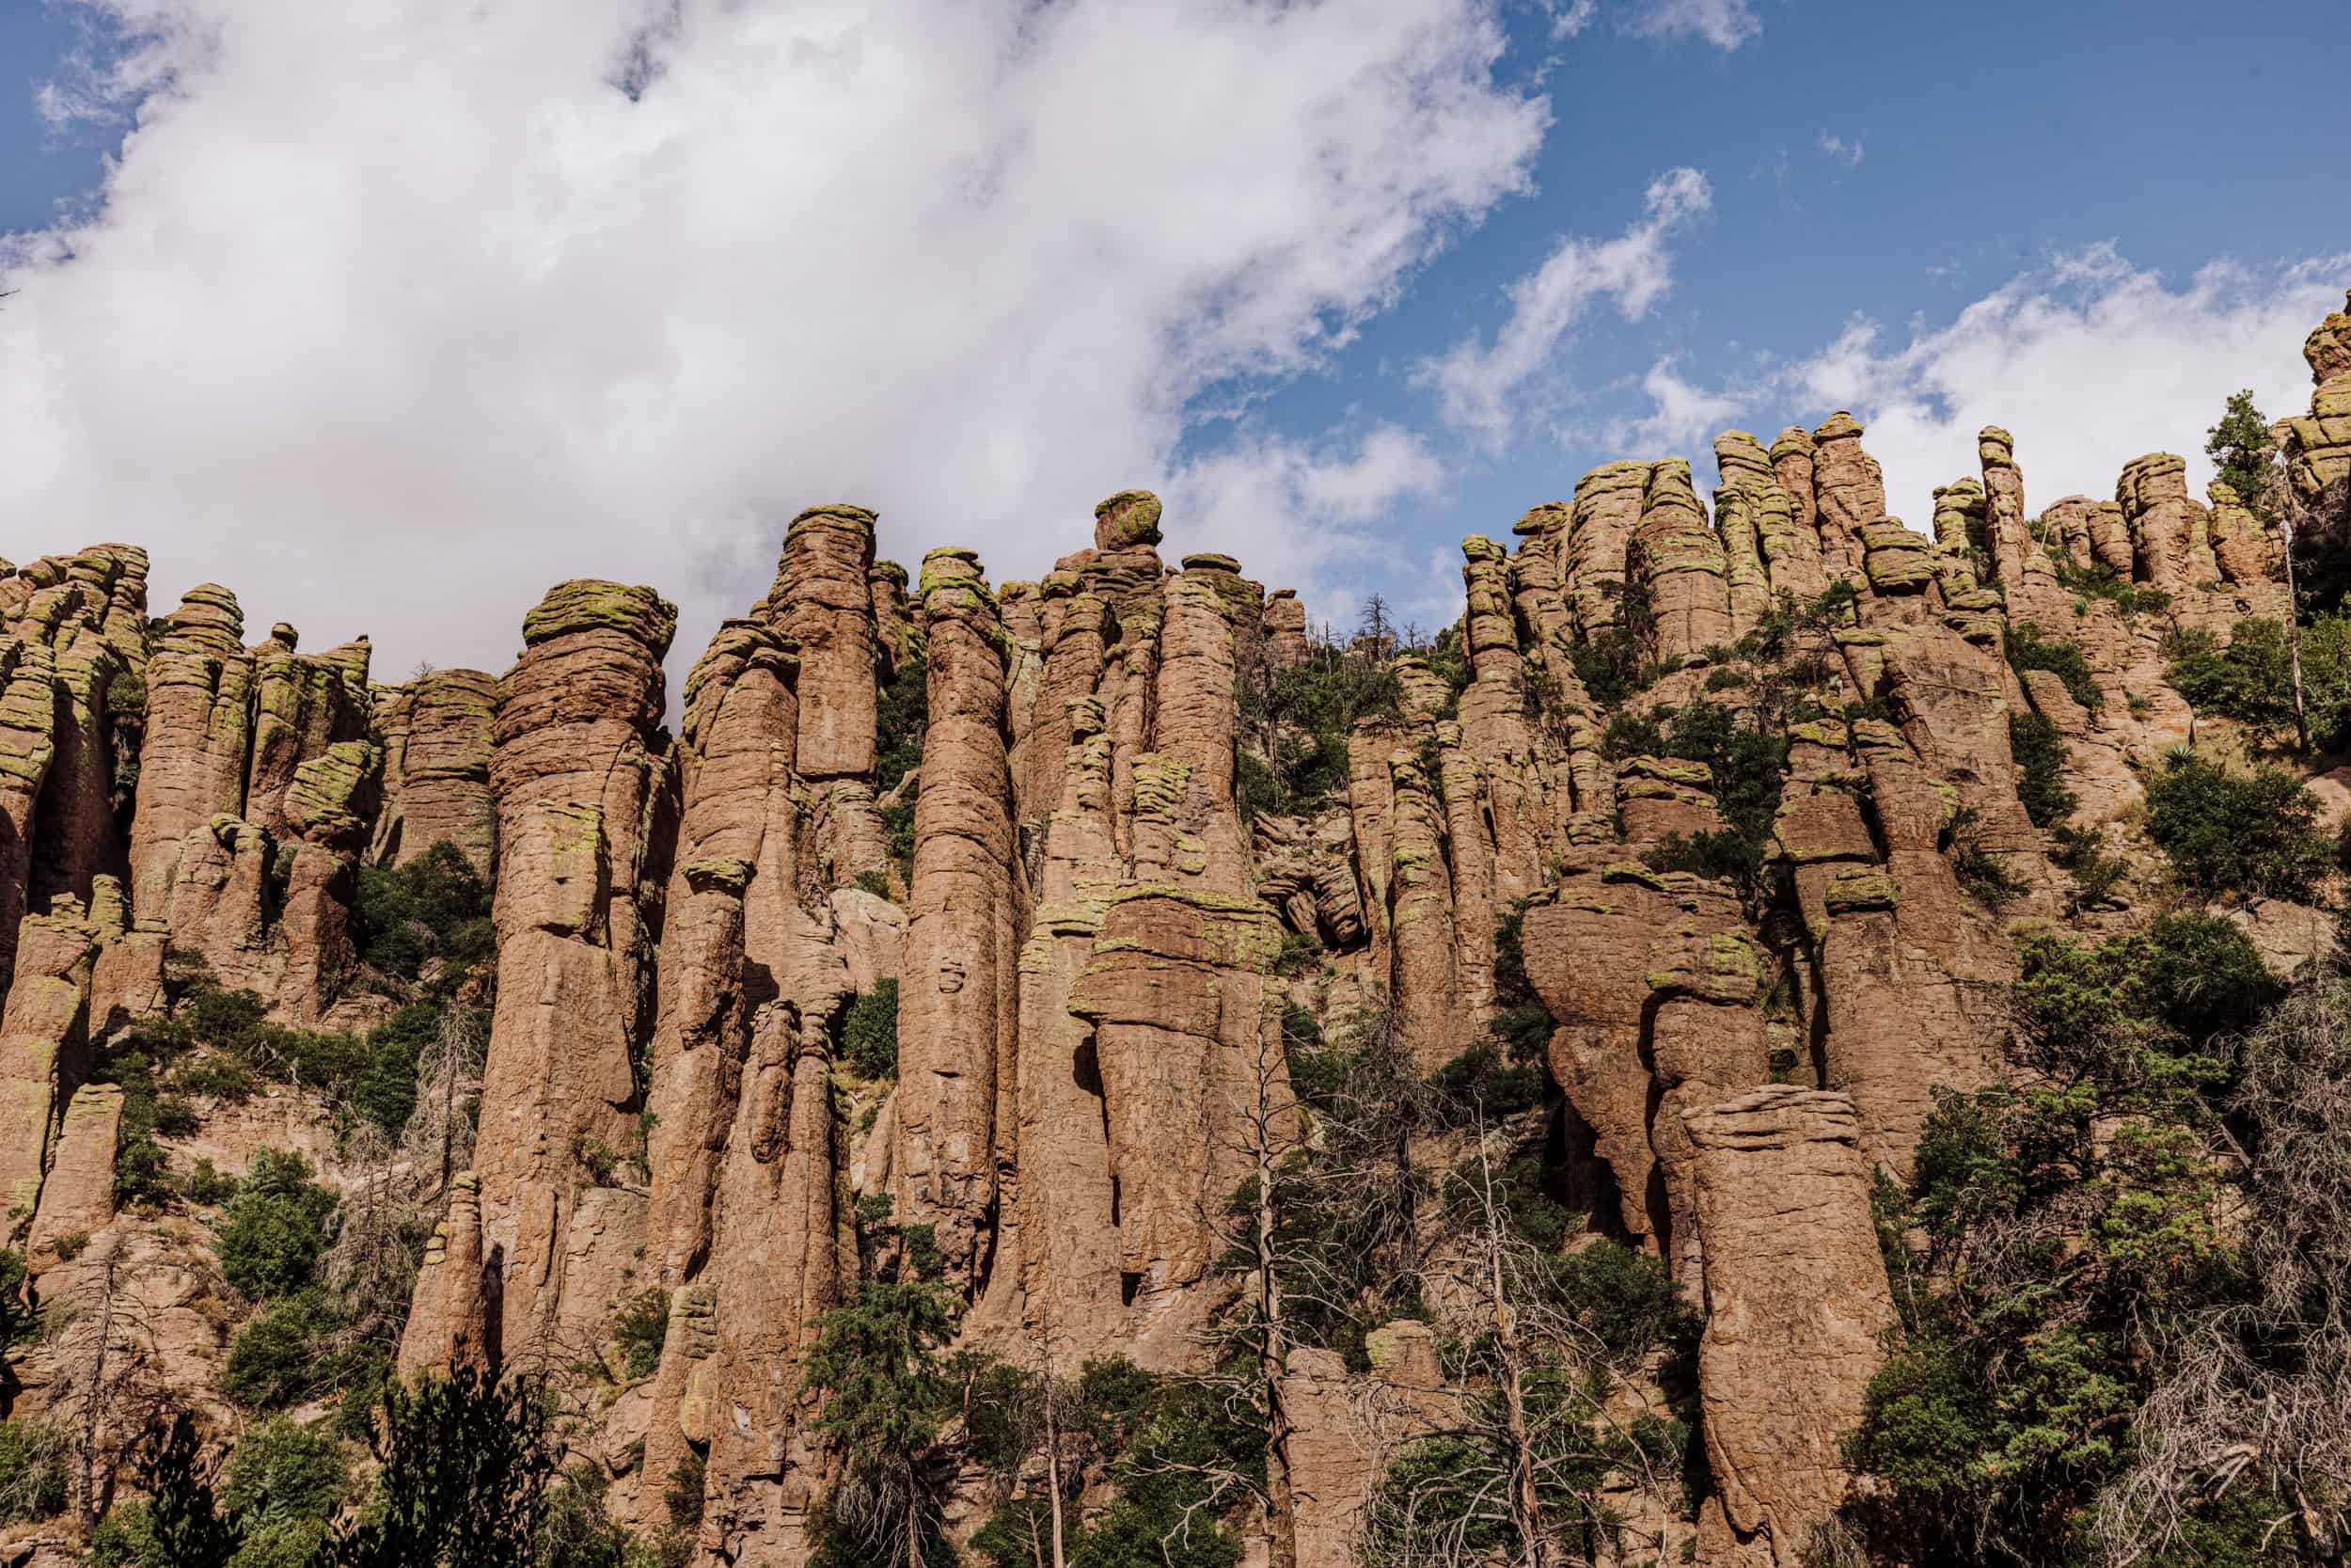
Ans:
{"type": "MultiPolygon", "coordinates": [[[[2024,945],[2015,1081],[1940,1093],[1909,1190],[1878,1192],[1900,1328],[1850,1446],[1883,1483],[1855,1507],[1876,1554],[2095,1556],[2163,1375],[2151,1345],[2245,1291],[2217,1225],[2224,1117],[2233,1041],[2276,994],[2205,914],[2024,945]]],[[[2196,1514],[2226,1549],[2182,1561],[2255,1561],[2233,1507],[2196,1514]]]]}

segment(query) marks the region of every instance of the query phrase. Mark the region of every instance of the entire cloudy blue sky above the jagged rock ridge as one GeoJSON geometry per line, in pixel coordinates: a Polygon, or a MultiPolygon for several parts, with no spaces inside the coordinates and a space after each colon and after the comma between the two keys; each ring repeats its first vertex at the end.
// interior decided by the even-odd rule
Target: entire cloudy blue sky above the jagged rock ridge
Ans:
{"type": "Polygon", "coordinates": [[[1726,425],[1850,404],[1925,524],[2008,423],[2038,505],[2299,404],[2351,284],[2339,2],[348,9],[0,0],[0,550],[379,675],[585,574],[682,665],[837,496],[1025,576],[1154,482],[1429,621],[1726,425]]]}

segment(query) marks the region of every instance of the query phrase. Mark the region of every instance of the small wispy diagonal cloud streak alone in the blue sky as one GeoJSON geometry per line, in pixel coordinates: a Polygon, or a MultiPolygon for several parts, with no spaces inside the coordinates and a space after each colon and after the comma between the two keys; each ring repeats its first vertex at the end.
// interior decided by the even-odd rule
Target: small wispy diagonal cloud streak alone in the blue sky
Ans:
{"type": "Polygon", "coordinates": [[[1549,259],[1509,284],[1509,320],[1488,346],[1462,339],[1415,371],[1439,395],[1448,425],[1500,451],[1521,416],[1521,395],[1559,353],[1561,339],[1601,299],[1627,322],[1641,320],[1672,287],[1667,237],[1714,202],[1697,169],[1669,169],[1648,186],[1641,219],[1615,240],[1568,235],[1549,259]]]}

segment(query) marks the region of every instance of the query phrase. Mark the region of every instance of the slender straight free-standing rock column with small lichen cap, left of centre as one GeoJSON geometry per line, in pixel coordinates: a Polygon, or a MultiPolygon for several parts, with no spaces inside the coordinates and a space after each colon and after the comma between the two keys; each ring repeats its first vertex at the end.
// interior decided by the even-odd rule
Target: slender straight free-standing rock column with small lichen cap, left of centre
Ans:
{"type": "Polygon", "coordinates": [[[924,557],[922,604],[931,729],[915,799],[891,1171],[900,1222],[936,1225],[950,1267],[978,1274],[1016,1016],[1004,628],[969,550],[924,557]]]}

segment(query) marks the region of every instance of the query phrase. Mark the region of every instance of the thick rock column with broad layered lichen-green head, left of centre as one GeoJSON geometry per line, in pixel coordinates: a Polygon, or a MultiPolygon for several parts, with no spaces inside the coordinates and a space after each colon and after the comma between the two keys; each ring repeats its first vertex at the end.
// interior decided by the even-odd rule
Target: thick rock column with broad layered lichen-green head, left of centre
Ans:
{"type": "Polygon", "coordinates": [[[498,1006],[475,1171],[508,1356],[548,1347],[592,1166],[637,1135],[632,1053],[651,978],[642,832],[675,630],[651,588],[560,583],[524,618],[505,677],[489,769],[498,1006]]]}

